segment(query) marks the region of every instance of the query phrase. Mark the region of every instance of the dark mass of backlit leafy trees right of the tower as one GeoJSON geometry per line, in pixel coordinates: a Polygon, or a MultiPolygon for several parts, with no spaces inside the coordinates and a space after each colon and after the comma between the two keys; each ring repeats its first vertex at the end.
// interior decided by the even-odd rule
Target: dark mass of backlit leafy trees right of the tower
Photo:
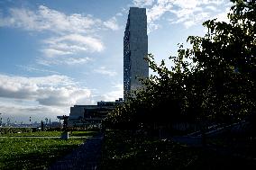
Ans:
{"type": "Polygon", "coordinates": [[[256,4],[233,0],[229,22],[203,23],[204,37],[189,36],[191,49],[179,45],[174,67],[146,60],[156,76],[142,79],[135,98],[108,114],[117,129],[168,126],[173,121],[239,121],[256,110],[256,4]],[[189,62],[188,62],[189,61],[189,62]]]}

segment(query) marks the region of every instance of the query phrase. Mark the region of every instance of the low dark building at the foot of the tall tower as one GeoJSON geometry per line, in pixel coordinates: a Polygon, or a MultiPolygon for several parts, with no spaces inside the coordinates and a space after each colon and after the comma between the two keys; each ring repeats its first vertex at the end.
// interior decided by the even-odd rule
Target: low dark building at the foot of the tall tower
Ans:
{"type": "Polygon", "coordinates": [[[100,124],[108,112],[123,103],[123,98],[115,102],[97,102],[96,105],[74,105],[70,107],[69,127],[87,126],[100,124]]]}

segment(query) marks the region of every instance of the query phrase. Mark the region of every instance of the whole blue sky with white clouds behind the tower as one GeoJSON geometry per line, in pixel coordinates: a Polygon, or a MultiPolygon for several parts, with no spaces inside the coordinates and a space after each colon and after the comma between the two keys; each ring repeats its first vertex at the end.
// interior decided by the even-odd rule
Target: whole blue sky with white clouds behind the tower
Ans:
{"type": "MultiPolygon", "coordinates": [[[[202,22],[226,20],[228,0],[1,0],[0,112],[18,123],[57,121],[74,104],[123,97],[123,31],[147,8],[149,53],[176,55],[202,22]]],[[[151,73],[151,72],[150,72],[151,73]]]]}

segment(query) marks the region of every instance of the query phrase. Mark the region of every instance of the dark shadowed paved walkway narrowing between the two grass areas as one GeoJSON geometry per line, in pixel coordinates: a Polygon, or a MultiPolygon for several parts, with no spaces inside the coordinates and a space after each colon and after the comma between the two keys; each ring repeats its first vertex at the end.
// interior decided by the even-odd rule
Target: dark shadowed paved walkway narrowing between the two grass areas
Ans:
{"type": "Polygon", "coordinates": [[[102,134],[86,140],[81,147],[49,167],[48,170],[96,170],[100,164],[102,134]]]}

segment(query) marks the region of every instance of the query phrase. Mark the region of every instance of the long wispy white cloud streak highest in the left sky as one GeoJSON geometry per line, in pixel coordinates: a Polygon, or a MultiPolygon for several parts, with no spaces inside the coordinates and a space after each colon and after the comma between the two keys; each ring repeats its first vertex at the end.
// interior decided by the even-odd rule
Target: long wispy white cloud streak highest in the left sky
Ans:
{"type": "Polygon", "coordinates": [[[11,8],[10,16],[1,20],[2,26],[14,26],[28,31],[53,31],[58,34],[91,32],[102,25],[102,21],[92,15],[67,15],[44,5],[40,5],[38,11],[11,8]]]}

